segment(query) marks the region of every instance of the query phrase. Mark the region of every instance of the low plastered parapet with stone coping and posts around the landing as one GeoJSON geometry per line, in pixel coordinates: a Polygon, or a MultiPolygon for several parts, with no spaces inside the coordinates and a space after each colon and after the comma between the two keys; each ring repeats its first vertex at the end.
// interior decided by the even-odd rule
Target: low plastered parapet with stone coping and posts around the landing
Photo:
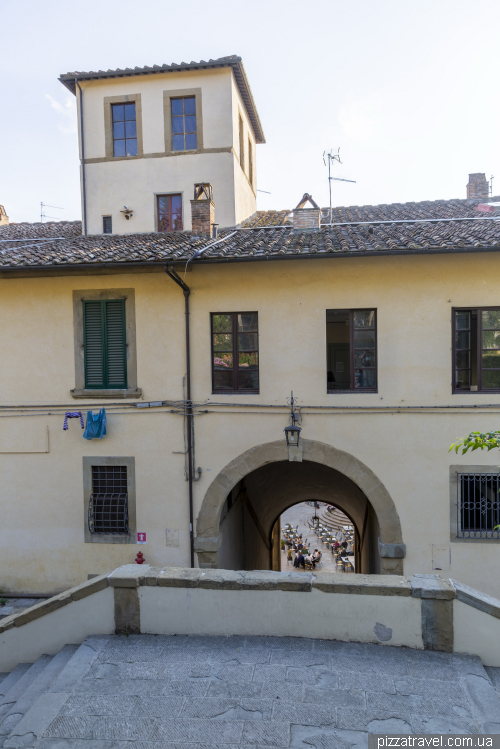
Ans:
{"type": "Polygon", "coordinates": [[[437,575],[129,564],[0,621],[0,671],[112,632],[371,642],[500,666],[500,601],[437,575]]]}

